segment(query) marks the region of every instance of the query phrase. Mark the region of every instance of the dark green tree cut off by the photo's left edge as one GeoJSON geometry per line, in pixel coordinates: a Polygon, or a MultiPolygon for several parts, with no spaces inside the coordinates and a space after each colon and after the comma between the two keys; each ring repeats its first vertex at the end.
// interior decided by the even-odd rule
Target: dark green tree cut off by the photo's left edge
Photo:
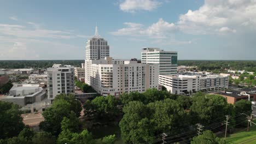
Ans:
{"type": "Polygon", "coordinates": [[[25,127],[19,106],[0,101],[0,139],[17,136],[25,127]]]}

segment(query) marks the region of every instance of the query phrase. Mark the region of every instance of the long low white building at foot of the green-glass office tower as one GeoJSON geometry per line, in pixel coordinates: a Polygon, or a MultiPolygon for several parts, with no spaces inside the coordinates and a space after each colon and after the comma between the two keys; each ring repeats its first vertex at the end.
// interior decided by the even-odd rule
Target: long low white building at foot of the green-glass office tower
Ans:
{"type": "Polygon", "coordinates": [[[227,89],[229,77],[187,72],[177,75],[159,75],[159,84],[165,86],[167,91],[173,94],[211,92],[227,89]]]}

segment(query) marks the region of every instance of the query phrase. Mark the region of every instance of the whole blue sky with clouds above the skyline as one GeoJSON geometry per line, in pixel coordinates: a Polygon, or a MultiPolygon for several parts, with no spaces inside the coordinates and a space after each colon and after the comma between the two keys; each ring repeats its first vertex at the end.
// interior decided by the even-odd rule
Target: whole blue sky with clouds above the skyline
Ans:
{"type": "Polygon", "coordinates": [[[256,60],[256,0],[0,0],[0,60],[84,59],[96,25],[117,59],[256,60]]]}

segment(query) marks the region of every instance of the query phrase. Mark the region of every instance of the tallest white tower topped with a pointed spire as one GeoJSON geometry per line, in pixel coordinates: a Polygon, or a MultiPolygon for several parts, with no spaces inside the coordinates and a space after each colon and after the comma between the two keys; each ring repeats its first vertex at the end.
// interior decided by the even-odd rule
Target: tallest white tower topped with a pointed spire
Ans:
{"type": "Polygon", "coordinates": [[[101,38],[96,26],[94,37],[86,42],[85,59],[104,59],[105,57],[109,57],[108,41],[101,38]]]}

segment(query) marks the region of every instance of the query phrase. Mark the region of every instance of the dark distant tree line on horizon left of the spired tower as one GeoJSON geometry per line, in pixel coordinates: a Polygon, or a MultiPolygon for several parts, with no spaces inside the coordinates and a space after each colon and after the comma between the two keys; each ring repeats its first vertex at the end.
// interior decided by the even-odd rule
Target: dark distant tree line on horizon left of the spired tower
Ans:
{"type": "Polygon", "coordinates": [[[23,68],[50,68],[53,64],[73,65],[81,67],[84,60],[27,60],[27,61],[0,61],[0,68],[23,69],[23,68]]]}

